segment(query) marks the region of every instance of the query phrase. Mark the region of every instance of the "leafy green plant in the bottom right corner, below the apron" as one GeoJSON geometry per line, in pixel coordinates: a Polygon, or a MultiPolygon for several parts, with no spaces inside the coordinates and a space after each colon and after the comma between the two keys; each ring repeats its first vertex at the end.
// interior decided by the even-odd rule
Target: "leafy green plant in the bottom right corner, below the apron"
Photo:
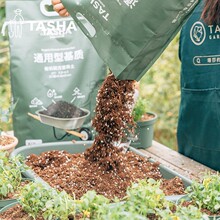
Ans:
{"type": "Polygon", "coordinates": [[[213,214],[220,211],[220,175],[207,173],[202,183],[194,181],[186,188],[188,197],[200,209],[207,209],[213,214]]]}

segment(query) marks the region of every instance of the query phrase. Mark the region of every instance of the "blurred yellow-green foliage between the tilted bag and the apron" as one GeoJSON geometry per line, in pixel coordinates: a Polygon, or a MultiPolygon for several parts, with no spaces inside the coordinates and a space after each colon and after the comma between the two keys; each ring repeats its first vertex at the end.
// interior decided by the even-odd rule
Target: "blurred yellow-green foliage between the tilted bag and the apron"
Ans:
{"type": "Polygon", "coordinates": [[[140,95],[148,111],[158,115],[154,140],[177,150],[176,129],[180,103],[179,34],[140,81],[140,95]]]}

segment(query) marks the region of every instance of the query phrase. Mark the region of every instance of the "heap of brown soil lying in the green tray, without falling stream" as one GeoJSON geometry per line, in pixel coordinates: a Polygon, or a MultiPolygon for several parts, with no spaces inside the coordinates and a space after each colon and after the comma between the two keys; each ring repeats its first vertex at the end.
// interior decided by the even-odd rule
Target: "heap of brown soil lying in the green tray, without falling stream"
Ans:
{"type": "MultiPolygon", "coordinates": [[[[74,147],[74,146],[73,146],[74,147]]],[[[35,173],[58,190],[75,194],[80,198],[89,190],[109,199],[123,198],[132,182],[138,179],[153,178],[161,180],[161,189],[166,195],[184,193],[184,185],[180,178],[166,180],[162,177],[159,163],[152,163],[148,158],[131,151],[118,153],[115,169],[106,171],[98,161],[86,160],[83,153],[70,154],[66,151],[48,151],[40,155],[30,155],[26,164],[35,173]]]]}

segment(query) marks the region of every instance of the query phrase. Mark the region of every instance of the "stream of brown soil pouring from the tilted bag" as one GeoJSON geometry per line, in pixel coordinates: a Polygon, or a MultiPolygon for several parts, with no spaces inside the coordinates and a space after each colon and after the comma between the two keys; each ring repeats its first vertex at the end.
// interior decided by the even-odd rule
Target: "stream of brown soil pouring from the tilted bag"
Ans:
{"type": "Polygon", "coordinates": [[[95,118],[92,125],[97,131],[94,144],[85,152],[89,161],[99,161],[106,171],[117,169],[120,149],[114,145],[125,136],[125,130],[135,126],[132,117],[134,105],[133,80],[117,80],[108,75],[97,95],[95,118]]]}

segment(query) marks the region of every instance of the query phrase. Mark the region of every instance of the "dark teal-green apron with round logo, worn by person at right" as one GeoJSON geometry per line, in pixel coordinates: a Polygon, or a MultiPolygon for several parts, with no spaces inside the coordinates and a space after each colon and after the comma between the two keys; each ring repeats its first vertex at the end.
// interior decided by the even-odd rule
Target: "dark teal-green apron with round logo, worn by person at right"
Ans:
{"type": "Polygon", "coordinates": [[[181,104],[178,150],[220,170],[220,25],[205,25],[202,3],[180,36],[181,104]]]}

